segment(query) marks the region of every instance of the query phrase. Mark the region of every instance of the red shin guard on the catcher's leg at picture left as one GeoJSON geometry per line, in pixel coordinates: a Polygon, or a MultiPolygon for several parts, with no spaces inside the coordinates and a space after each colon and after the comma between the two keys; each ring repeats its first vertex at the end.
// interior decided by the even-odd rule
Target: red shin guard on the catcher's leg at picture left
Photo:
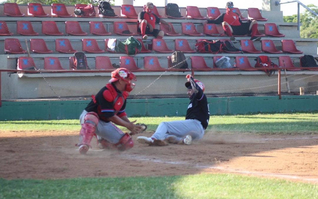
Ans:
{"type": "MultiPolygon", "coordinates": [[[[81,145],[90,146],[91,140],[95,135],[95,129],[98,124],[99,117],[95,112],[88,112],[84,116],[84,124],[82,124],[82,128],[79,131],[79,139],[81,145]]],[[[91,147],[91,146],[90,146],[91,147]]]]}

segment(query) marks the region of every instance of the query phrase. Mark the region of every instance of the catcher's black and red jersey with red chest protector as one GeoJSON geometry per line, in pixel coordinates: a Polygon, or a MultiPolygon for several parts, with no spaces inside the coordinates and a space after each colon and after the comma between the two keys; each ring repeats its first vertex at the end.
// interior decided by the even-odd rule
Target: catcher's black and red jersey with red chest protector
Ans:
{"type": "Polygon", "coordinates": [[[121,92],[116,88],[114,83],[107,83],[105,87],[92,96],[92,101],[86,106],[87,112],[95,112],[100,117],[100,120],[109,122],[108,117],[117,115],[123,117],[126,114],[126,98],[128,92],[121,92]]]}

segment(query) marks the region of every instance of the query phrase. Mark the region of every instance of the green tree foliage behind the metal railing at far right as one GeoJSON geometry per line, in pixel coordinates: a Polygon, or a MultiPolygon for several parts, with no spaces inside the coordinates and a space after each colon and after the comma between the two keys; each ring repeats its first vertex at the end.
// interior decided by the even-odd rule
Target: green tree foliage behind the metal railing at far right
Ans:
{"type": "MultiPolygon", "coordinates": [[[[309,4],[307,7],[318,13],[318,7],[314,4],[309,4]]],[[[318,38],[318,17],[306,10],[300,13],[299,18],[301,22],[301,38],[318,38]]],[[[297,15],[284,16],[284,22],[297,22],[297,15]]]]}

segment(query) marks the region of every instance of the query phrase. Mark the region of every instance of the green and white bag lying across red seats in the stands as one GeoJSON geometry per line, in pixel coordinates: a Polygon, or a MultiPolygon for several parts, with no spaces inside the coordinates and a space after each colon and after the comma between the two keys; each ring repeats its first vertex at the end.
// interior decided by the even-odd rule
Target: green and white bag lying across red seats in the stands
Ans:
{"type": "Polygon", "coordinates": [[[138,39],[131,36],[124,42],[119,39],[109,39],[108,47],[109,49],[113,49],[116,53],[135,55],[141,51],[142,44],[138,39]]]}

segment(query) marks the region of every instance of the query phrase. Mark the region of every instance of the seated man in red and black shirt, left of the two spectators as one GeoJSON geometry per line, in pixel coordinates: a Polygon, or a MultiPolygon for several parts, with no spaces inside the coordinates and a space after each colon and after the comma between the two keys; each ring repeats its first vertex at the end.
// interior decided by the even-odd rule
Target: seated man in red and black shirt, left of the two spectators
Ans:
{"type": "MultiPolygon", "coordinates": [[[[138,14],[138,22],[137,22],[137,32],[142,35],[142,39],[147,39],[148,34],[153,35],[156,38],[162,38],[164,35],[164,32],[158,29],[155,29],[155,24],[166,24],[168,23],[159,17],[157,17],[155,14],[152,13],[152,10],[154,8],[154,4],[151,2],[148,2],[146,4],[146,11],[139,12],[138,14]]],[[[168,25],[170,28],[170,26],[168,25]]],[[[171,28],[170,28],[171,29],[171,28]]]]}

